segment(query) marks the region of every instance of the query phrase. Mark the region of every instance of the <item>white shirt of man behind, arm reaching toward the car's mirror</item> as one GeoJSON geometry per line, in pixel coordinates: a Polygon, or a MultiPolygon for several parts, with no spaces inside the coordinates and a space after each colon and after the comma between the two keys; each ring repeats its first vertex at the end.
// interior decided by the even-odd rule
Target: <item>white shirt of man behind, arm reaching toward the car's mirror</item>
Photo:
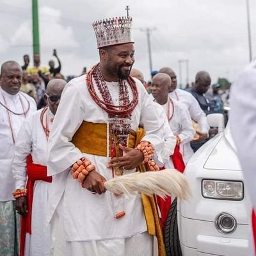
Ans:
{"type": "Polygon", "coordinates": [[[210,127],[207,124],[205,113],[191,93],[177,88],[173,92],[170,92],[169,96],[172,99],[182,102],[188,108],[191,118],[200,126],[202,133],[208,133],[210,127]]]}

